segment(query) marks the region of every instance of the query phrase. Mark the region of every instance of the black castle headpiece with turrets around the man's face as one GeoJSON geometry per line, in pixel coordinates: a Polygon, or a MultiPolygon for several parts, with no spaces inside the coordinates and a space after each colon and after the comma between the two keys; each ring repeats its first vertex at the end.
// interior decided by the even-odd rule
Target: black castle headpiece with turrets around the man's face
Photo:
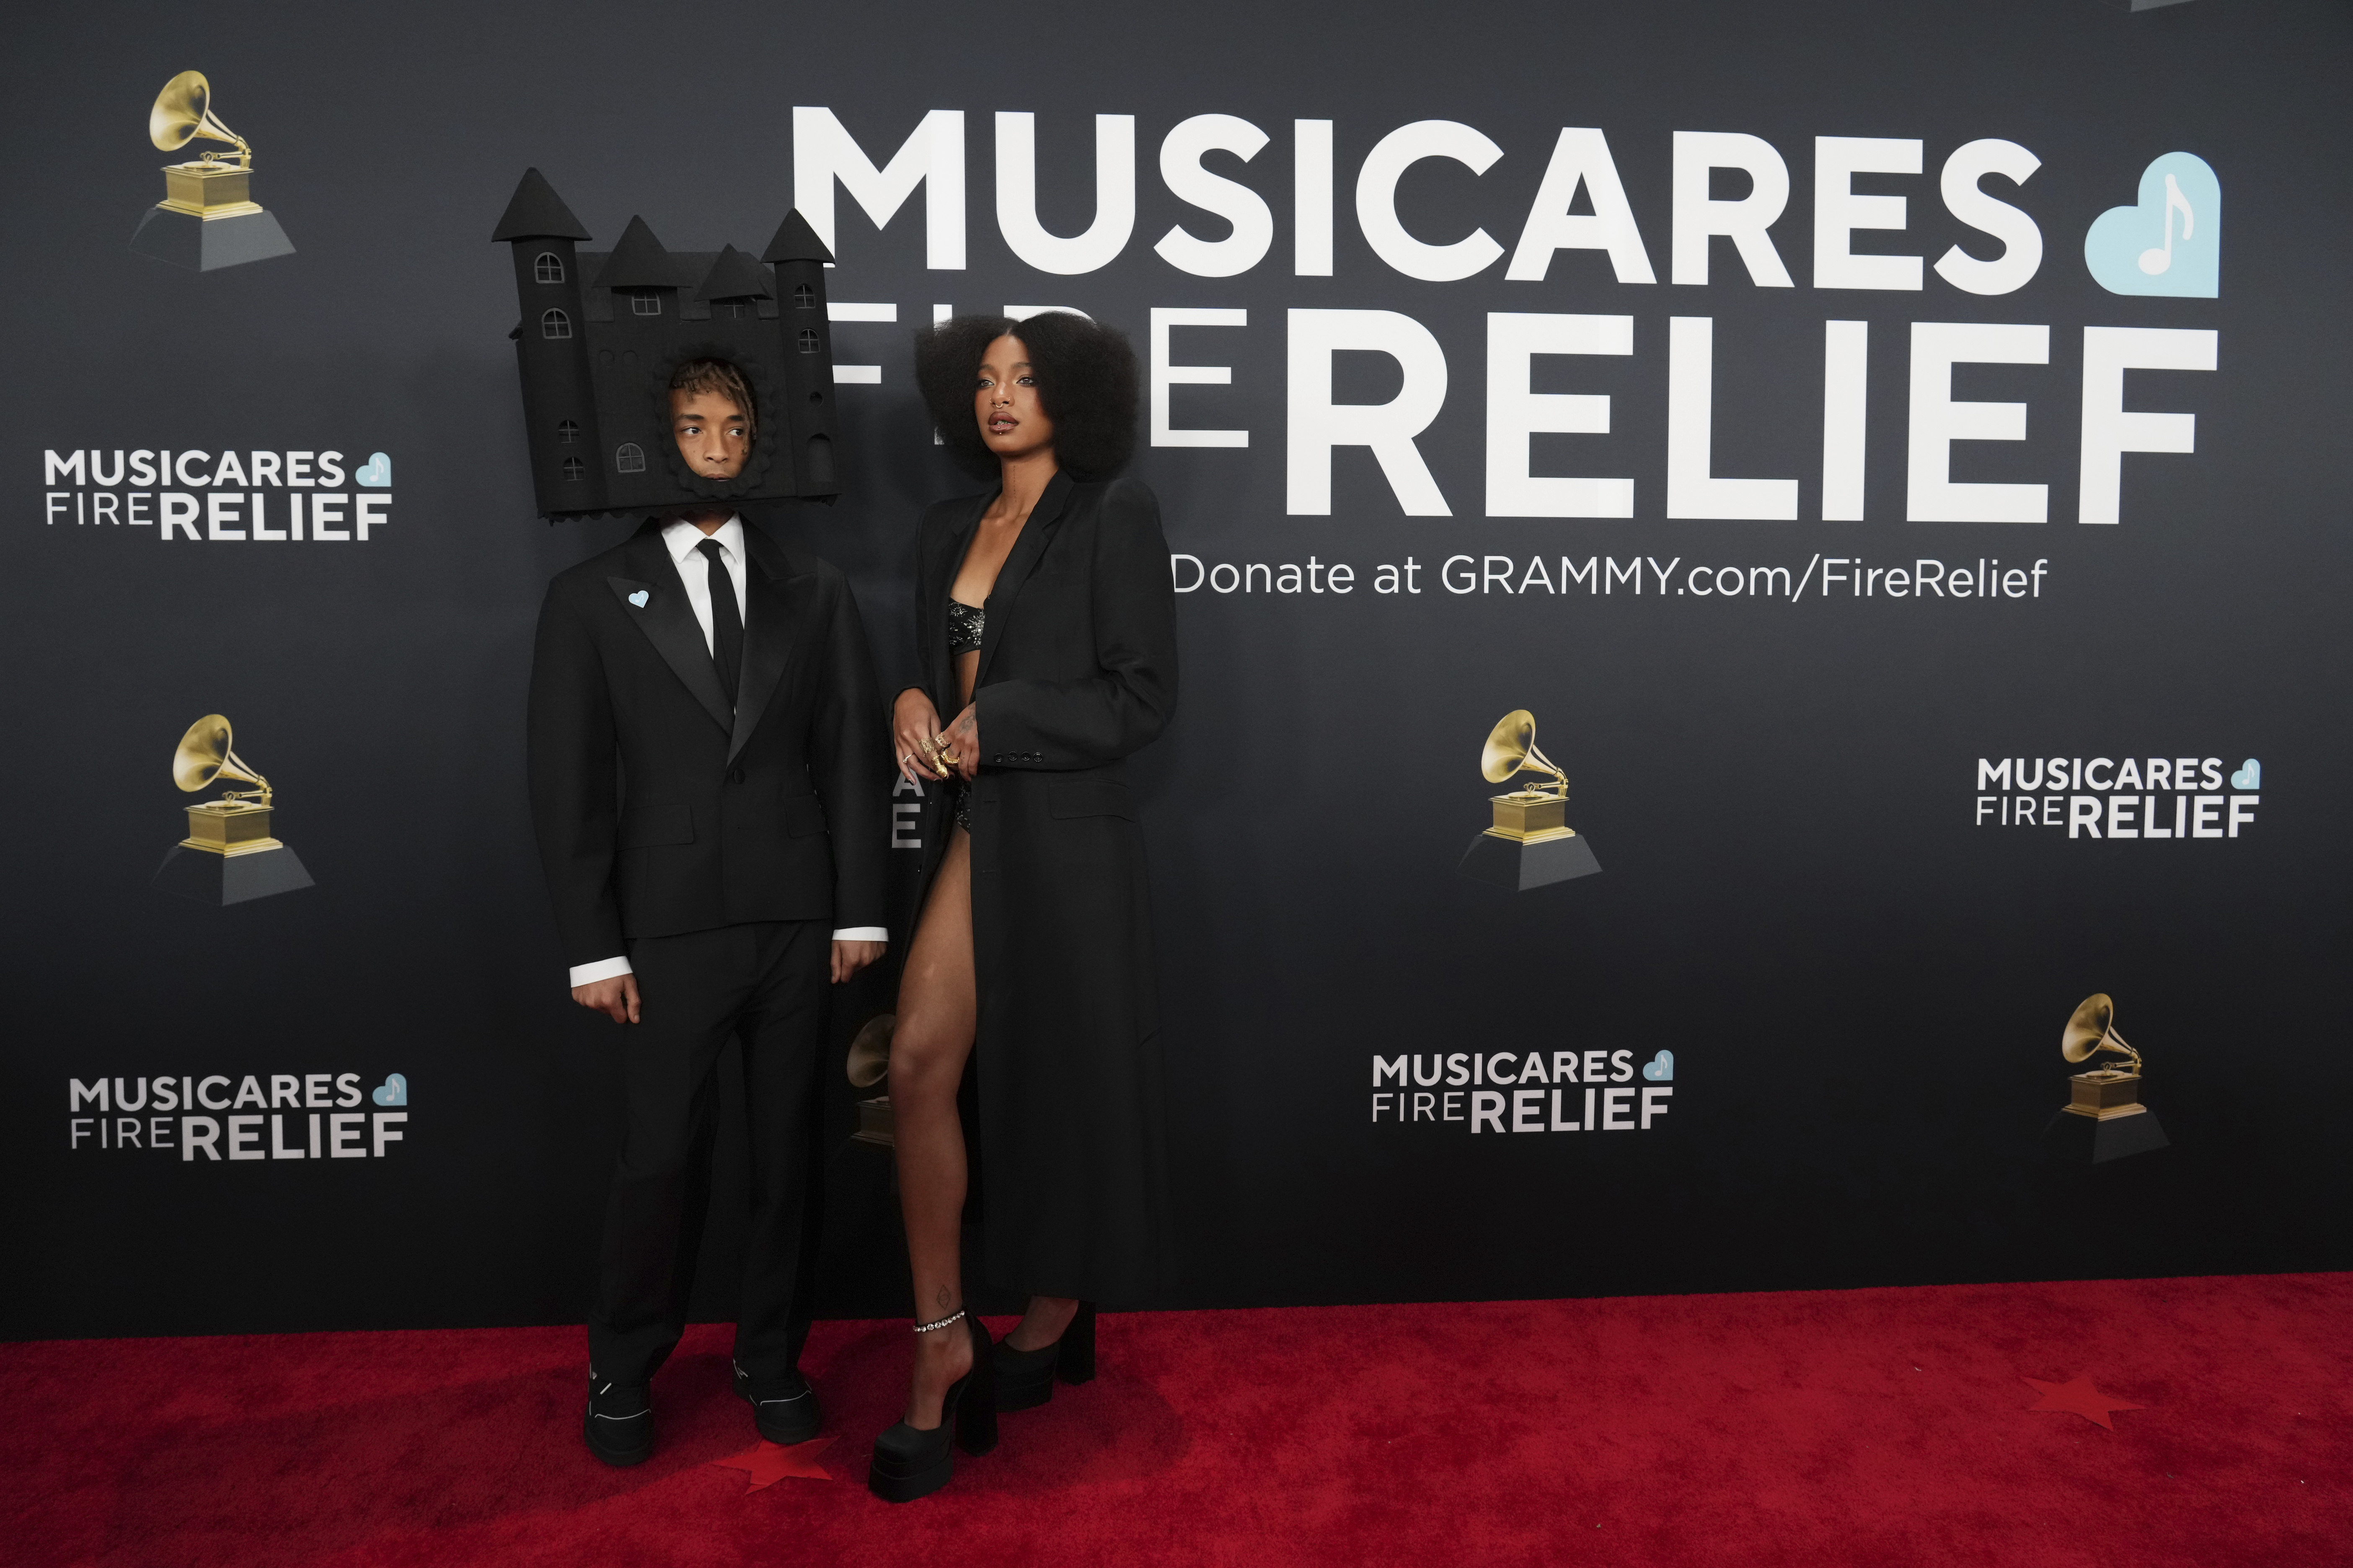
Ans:
{"type": "Polygon", "coordinates": [[[588,230],[539,169],[525,169],[489,237],[515,252],[515,364],[544,517],[840,494],[833,256],[798,212],[758,261],[732,244],[666,252],[645,219],[631,219],[612,252],[581,252],[588,230]],[[758,404],[758,437],[734,480],[701,480],[678,456],[671,371],[687,360],[732,362],[758,404]]]}

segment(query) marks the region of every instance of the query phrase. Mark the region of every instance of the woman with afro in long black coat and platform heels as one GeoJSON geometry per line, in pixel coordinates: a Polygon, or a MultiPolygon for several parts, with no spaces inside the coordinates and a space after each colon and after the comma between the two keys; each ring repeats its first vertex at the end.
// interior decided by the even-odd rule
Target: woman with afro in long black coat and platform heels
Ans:
{"type": "Polygon", "coordinates": [[[939,440],[988,489],[915,548],[918,665],[892,712],[929,809],[920,919],[889,1053],[915,1279],[906,1420],[868,1483],[922,1497],[995,1443],[995,1413],[1094,1375],[1094,1302],[1136,1300],[1167,1248],[1160,1027],[1127,757],[1176,708],[1160,503],[1120,470],[1136,360],[1082,315],[958,317],[918,336],[939,440]],[[965,1316],[972,1058],[986,1269],[1028,1291],[1002,1345],[965,1316]]]}

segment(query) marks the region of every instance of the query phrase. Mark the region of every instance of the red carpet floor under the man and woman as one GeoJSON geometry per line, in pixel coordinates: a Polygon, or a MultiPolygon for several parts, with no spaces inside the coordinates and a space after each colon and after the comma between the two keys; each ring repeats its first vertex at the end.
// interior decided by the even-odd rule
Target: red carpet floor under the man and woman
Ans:
{"type": "Polygon", "coordinates": [[[579,1328],[7,1345],[0,1554],[2341,1566],[2348,1309],[2353,1274],[1125,1314],[1096,1382],[906,1507],[864,1488],[904,1324],[819,1324],[835,1479],[762,1490],[718,1465],[755,1441],[722,1328],[626,1472],[579,1441],[579,1328]]]}

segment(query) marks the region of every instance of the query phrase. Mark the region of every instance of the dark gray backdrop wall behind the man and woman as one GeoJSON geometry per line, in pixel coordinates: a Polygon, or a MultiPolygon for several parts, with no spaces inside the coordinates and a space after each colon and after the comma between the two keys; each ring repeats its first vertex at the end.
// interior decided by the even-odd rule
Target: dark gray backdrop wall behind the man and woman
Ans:
{"type": "MultiPolygon", "coordinates": [[[[793,200],[795,103],[831,106],[873,158],[925,110],[967,110],[967,270],[922,268],[920,195],[880,233],[840,197],[833,296],[894,301],[901,324],[838,329],[840,360],[885,364],[882,386],[842,393],[849,494],[776,522],[852,574],[878,644],[908,635],[920,505],[960,487],[906,376],[906,324],[932,301],[1068,303],[1139,348],[1151,306],[1249,308],[1245,331],[1179,334],[1179,360],[1235,376],[1176,407],[1247,425],[1252,447],[1146,451],[1136,473],[1174,550],[1362,574],[1346,599],[1181,599],[1184,705],[1141,762],[1186,1248],[1160,1305],[2344,1267],[2353,1074],[2327,976],[2348,839],[2327,802],[2348,766],[2348,45],[2344,7],[2320,0],[19,21],[0,63],[16,127],[0,1333],[579,1316],[614,1053],[609,1025],[565,999],[520,712],[539,585],[621,524],[529,515],[511,270],[487,235],[539,165],[598,249],[633,212],[675,249],[755,249],[793,200]],[[292,259],[195,275],[127,252],[167,162],[146,106],[191,66],[256,143],[256,197],[292,259]],[[1139,118],[1139,216],[1113,266],[1045,277],[1005,249],[1000,108],[1038,110],[1059,233],[1092,216],[1092,115],[1139,118]],[[1275,209],[1273,252],[1233,280],[1151,252],[1176,221],[1224,230],[1155,176],[1167,127],[1212,110],[1273,136],[1247,169],[1221,165],[1275,209]],[[1334,277],[1292,277],[1294,118],[1339,127],[1334,277]],[[1574,252],[1541,284],[1501,263],[1400,277],[1355,233],[1353,174],[1426,118],[1475,125],[1506,158],[1482,179],[1417,167],[1400,193],[1417,233],[1482,223],[1511,247],[1555,129],[1598,125],[1661,277],[1671,132],[1765,136],[1793,174],[1774,242],[1800,287],[1753,289],[1722,244],[1708,289],[1619,287],[1574,252]],[[1859,188],[1911,197],[1911,233],[1861,247],[1929,261],[1967,237],[1937,200],[1944,155],[2026,143],[2045,165],[2019,197],[2040,275],[2002,299],[1934,277],[1922,294],[1805,287],[1817,134],[1927,141],[1925,176],[1859,188]],[[2228,197],[2221,299],[2111,296],[2080,235],[2177,148],[2228,197]],[[1329,517],[1285,515],[1292,306],[1405,310],[1438,334],[1452,393],[1421,449],[1454,517],[1402,517],[1365,451],[1337,458],[1329,517]],[[1635,315],[1633,360],[1539,371],[1544,390],[1609,393],[1614,435],[1537,442],[1539,473],[1635,475],[1633,520],[1480,517],[1487,310],[1635,315]],[[1664,520],[1668,315],[1718,322],[1715,473],[1798,475],[1802,515],[1819,512],[1819,322],[1873,320],[1873,522],[1664,520]],[[2052,324],[2049,367],[1960,374],[1958,395],[2033,416],[2026,442],[1955,465],[2047,480],[2052,524],[1897,522],[1911,320],[2052,324]],[[2127,458],[2118,529],[2073,522],[2085,324],[2221,331],[2217,374],[2132,381],[2139,407],[2198,416],[2198,454],[2127,458]],[[71,447],[386,451],[395,522],[365,548],[47,524],[42,449],[71,447]],[[2052,569],[2035,602],[1697,607],[1624,588],[1452,597],[1431,569],[1454,552],[2052,569]],[[1426,592],[1374,597],[1367,567],[1405,555],[1426,592]],[[1485,820],[1475,745],[1522,705],[1607,870],[1515,898],[1454,858],[1485,820]],[[278,785],[313,891],[205,910],[148,889],[181,832],[165,750],[214,710],[278,785]],[[2245,837],[1972,825],[1979,757],[2177,752],[2261,757],[2245,837]],[[2174,1147],[2052,1168],[2052,1046],[2092,990],[2151,1056],[2174,1147]],[[1675,1110],[1624,1138],[1367,1121],[1374,1053],[1478,1046],[1673,1048],[1675,1110]],[[325,1166],[68,1147],[68,1079],[322,1070],[402,1072],[407,1143],[325,1166]]],[[[1351,397],[1393,386],[1379,362],[1341,371],[1351,397]]],[[[904,1309],[882,1157],[838,1150],[833,1175],[831,1309],[904,1309]]],[[[727,1298],[706,1281],[699,1309],[727,1298]]]]}

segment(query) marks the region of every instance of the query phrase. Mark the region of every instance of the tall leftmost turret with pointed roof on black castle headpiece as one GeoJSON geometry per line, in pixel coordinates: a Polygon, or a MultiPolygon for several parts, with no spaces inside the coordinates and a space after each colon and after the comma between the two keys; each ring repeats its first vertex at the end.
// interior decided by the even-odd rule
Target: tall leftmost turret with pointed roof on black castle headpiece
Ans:
{"type": "Polygon", "coordinates": [[[588,310],[576,242],[588,237],[555,188],[525,169],[506,216],[492,230],[515,254],[515,362],[529,425],[532,489],[546,517],[605,505],[598,461],[595,381],[588,371],[588,310]]]}

